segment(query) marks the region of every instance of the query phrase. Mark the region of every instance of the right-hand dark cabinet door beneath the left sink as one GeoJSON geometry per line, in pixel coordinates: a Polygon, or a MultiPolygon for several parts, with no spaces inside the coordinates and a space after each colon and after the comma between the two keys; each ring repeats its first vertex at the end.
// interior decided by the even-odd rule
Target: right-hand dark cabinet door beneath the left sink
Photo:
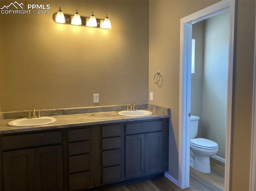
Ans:
{"type": "Polygon", "coordinates": [[[36,191],[62,191],[62,146],[35,148],[36,191]]]}

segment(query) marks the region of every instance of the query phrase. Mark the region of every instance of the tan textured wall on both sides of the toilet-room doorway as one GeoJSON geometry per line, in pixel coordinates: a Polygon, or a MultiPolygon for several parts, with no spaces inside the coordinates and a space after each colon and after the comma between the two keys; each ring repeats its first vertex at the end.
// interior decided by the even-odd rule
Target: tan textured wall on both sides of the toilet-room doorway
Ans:
{"type": "MultiPolygon", "coordinates": [[[[156,104],[171,108],[172,128],[169,147],[170,175],[178,179],[179,138],[179,58],[180,19],[217,1],[150,1],[149,9],[149,92],[156,104]],[[156,17],[158,15],[158,17],[156,17]],[[161,18],[161,19],[159,19],[161,18]],[[162,72],[163,83],[153,82],[162,72]]],[[[255,1],[237,1],[236,56],[234,63],[234,102],[232,116],[231,179],[232,191],[249,189],[250,140],[252,127],[252,82],[254,61],[255,1]]]]}

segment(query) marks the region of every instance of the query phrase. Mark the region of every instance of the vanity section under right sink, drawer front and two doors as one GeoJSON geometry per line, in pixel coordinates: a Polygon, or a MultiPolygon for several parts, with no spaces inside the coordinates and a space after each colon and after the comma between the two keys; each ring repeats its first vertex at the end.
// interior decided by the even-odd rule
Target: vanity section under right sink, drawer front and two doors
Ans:
{"type": "Polygon", "coordinates": [[[163,132],[166,134],[162,120],[126,124],[126,178],[167,170],[163,132]]]}

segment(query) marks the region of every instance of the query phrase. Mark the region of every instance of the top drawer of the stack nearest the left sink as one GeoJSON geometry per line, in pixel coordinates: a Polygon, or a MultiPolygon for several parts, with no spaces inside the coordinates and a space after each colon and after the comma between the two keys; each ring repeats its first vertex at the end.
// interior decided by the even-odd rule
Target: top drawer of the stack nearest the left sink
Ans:
{"type": "Polygon", "coordinates": [[[90,140],[90,128],[68,130],[68,142],[90,140]]]}

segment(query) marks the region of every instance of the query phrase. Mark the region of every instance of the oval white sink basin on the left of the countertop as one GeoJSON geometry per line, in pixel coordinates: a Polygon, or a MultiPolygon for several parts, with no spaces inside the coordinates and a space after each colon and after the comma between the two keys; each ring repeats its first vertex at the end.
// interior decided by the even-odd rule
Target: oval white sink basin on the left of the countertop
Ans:
{"type": "Polygon", "coordinates": [[[29,127],[29,126],[38,126],[46,125],[56,121],[53,117],[40,117],[40,118],[21,118],[15,119],[8,123],[9,126],[13,127],[29,127]]]}

